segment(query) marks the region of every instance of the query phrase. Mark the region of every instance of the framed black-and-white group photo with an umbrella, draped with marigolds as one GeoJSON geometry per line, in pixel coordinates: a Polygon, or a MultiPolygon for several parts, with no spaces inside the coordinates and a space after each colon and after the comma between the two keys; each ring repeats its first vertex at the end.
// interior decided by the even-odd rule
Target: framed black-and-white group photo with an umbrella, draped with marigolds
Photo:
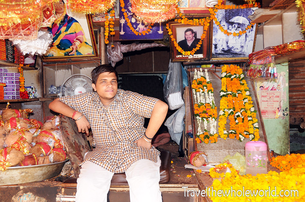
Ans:
{"type": "Polygon", "coordinates": [[[257,33],[257,24],[249,28],[251,20],[248,16],[253,12],[253,8],[218,10],[216,18],[219,25],[213,23],[212,60],[248,59],[254,51],[257,33]]]}

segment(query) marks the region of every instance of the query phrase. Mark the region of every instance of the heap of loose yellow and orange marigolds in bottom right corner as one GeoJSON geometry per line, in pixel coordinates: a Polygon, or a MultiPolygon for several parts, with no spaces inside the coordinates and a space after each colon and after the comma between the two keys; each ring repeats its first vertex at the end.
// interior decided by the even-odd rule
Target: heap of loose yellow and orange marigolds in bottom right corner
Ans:
{"type": "Polygon", "coordinates": [[[219,197],[215,194],[210,194],[209,196],[211,200],[213,202],[304,201],[305,155],[292,154],[286,156],[278,156],[273,158],[272,162],[275,163],[277,168],[282,167],[281,169],[283,171],[280,173],[269,171],[267,174],[257,174],[256,176],[252,176],[250,174],[242,176],[226,175],[221,180],[215,179],[212,184],[215,193],[217,193],[218,190],[220,190],[222,193],[228,193],[231,190],[233,191],[232,194],[223,194],[222,197],[219,197]],[[296,161],[298,161],[298,164],[296,161]],[[246,191],[249,194],[240,194],[246,193],[246,191]]]}

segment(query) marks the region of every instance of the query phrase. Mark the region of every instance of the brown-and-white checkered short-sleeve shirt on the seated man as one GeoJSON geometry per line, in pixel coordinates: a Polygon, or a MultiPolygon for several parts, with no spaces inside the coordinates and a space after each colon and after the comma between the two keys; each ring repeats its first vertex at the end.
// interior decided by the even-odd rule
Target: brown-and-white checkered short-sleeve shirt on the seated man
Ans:
{"type": "Polygon", "coordinates": [[[158,99],[121,89],[107,108],[96,92],[59,99],[83,113],[90,123],[95,149],[80,165],[91,161],[110,172],[120,173],[139,159],[157,162],[160,152],[156,148],[138,147],[134,141],[143,137],[144,117],[151,116],[158,99]]]}

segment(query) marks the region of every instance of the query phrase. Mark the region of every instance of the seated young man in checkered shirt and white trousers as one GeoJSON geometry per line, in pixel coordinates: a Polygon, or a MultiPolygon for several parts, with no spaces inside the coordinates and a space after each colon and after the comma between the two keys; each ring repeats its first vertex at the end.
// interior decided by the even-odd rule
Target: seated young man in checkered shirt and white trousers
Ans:
{"type": "Polygon", "coordinates": [[[49,104],[51,110],[73,118],[79,132],[88,135],[92,130],[95,149],[81,163],[76,201],[106,202],[113,174],[125,172],[131,202],[161,202],[160,152],[151,140],[166,117],[167,104],[117,89],[118,74],[108,64],[93,69],[91,77],[95,92],[49,104]],[[147,129],[144,117],[150,117],[147,129]]]}

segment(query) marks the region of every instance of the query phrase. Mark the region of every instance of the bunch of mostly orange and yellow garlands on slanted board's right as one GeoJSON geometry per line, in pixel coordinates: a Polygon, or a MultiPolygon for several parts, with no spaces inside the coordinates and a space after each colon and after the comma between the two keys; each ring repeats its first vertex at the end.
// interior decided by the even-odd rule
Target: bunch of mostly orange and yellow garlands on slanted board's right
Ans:
{"type": "Polygon", "coordinates": [[[221,138],[245,138],[257,141],[259,137],[258,120],[242,69],[236,65],[221,68],[220,111],[218,134],[221,138]],[[226,130],[227,118],[230,130],[226,130]]]}

